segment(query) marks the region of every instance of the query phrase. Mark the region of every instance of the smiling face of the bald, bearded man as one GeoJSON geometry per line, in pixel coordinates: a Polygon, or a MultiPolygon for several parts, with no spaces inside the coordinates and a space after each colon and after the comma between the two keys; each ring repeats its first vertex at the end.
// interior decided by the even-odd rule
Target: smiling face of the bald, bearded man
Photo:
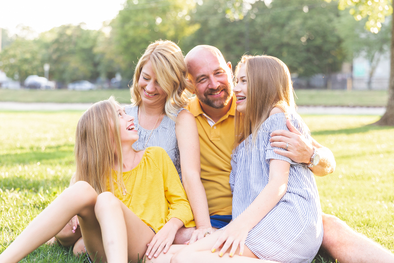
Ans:
{"type": "Polygon", "coordinates": [[[231,64],[208,49],[199,50],[188,60],[194,92],[200,103],[215,109],[225,107],[232,98],[231,64]]]}

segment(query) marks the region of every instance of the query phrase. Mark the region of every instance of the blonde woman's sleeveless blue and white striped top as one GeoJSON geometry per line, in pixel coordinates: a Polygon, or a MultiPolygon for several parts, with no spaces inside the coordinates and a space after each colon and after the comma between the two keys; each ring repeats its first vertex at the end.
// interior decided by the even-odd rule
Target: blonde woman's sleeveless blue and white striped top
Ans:
{"type": "MultiPolygon", "coordinates": [[[[179,109],[176,116],[178,116],[179,112],[181,112],[182,110],[186,109],[179,109]]],[[[144,129],[140,126],[138,120],[138,106],[127,105],[125,107],[125,111],[127,115],[134,117],[134,125],[137,128],[138,136],[140,137],[136,142],[134,142],[133,148],[136,150],[142,150],[152,130],[144,129]]],[[[167,115],[164,115],[164,118],[160,123],[159,127],[153,130],[148,144],[146,145],[146,148],[150,146],[162,147],[167,152],[168,156],[174,163],[176,171],[178,171],[179,178],[182,182],[181,160],[179,155],[178,140],[176,140],[175,136],[175,122],[171,120],[167,115]]]]}

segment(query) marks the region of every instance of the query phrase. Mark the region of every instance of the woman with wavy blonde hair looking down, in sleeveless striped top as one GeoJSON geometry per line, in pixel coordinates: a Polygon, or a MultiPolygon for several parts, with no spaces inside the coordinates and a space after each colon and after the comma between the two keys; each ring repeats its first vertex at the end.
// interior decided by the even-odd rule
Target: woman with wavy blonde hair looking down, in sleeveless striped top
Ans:
{"type": "MultiPolygon", "coordinates": [[[[182,50],[171,41],[158,40],[145,50],[135,67],[130,87],[131,105],[125,107],[134,117],[139,140],[133,147],[143,150],[149,146],[162,147],[171,158],[187,193],[196,224],[195,228],[182,228],[175,236],[175,244],[198,239],[211,228],[208,203],[200,179],[200,141],[194,116],[183,107],[193,90],[187,80],[187,66],[182,50]]],[[[84,252],[83,239],[77,227],[66,226],[56,235],[65,247],[74,245],[74,254],[84,252]],[[72,232],[76,232],[73,234],[72,232]],[[79,239],[78,239],[79,238],[79,239]]],[[[156,241],[156,238],[153,239],[156,241]]],[[[154,242],[148,247],[148,257],[154,242]]]]}

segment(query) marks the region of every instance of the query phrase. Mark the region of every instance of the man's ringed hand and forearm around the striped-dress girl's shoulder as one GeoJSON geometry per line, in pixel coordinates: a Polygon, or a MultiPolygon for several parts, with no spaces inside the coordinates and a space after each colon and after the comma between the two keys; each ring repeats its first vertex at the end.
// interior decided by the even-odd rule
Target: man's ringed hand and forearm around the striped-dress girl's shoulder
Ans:
{"type": "Polygon", "coordinates": [[[274,149],[276,154],[289,157],[294,162],[310,163],[314,146],[318,150],[320,161],[318,165],[310,168],[310,171],[317,176],[325,176],[334,172],[336,162],[329,148],[319,144],[313,138],[311,143],[307,141],[305,137],[291,125],[289,120],[286,121],[286,125],[290,132],[287,130],[275,130],[271,133],[271,139],[269,141],[272,147],[286,149],[288,143],[287,151],[274,149]]]}

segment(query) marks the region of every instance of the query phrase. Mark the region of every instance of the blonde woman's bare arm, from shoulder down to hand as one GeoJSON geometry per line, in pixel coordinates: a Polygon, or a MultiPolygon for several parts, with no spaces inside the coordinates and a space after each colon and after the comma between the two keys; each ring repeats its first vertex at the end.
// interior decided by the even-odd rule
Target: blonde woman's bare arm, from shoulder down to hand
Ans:
{"type": "Polygon", "coordinates": [[[175,123],[175,134],[181,156],[182,182],[194,215],[197,230],[194,231],[190,243],[204,237],[211,231],[207,196],[200,172],[200,140],[194,116],[182,110],[175,123]]]}

